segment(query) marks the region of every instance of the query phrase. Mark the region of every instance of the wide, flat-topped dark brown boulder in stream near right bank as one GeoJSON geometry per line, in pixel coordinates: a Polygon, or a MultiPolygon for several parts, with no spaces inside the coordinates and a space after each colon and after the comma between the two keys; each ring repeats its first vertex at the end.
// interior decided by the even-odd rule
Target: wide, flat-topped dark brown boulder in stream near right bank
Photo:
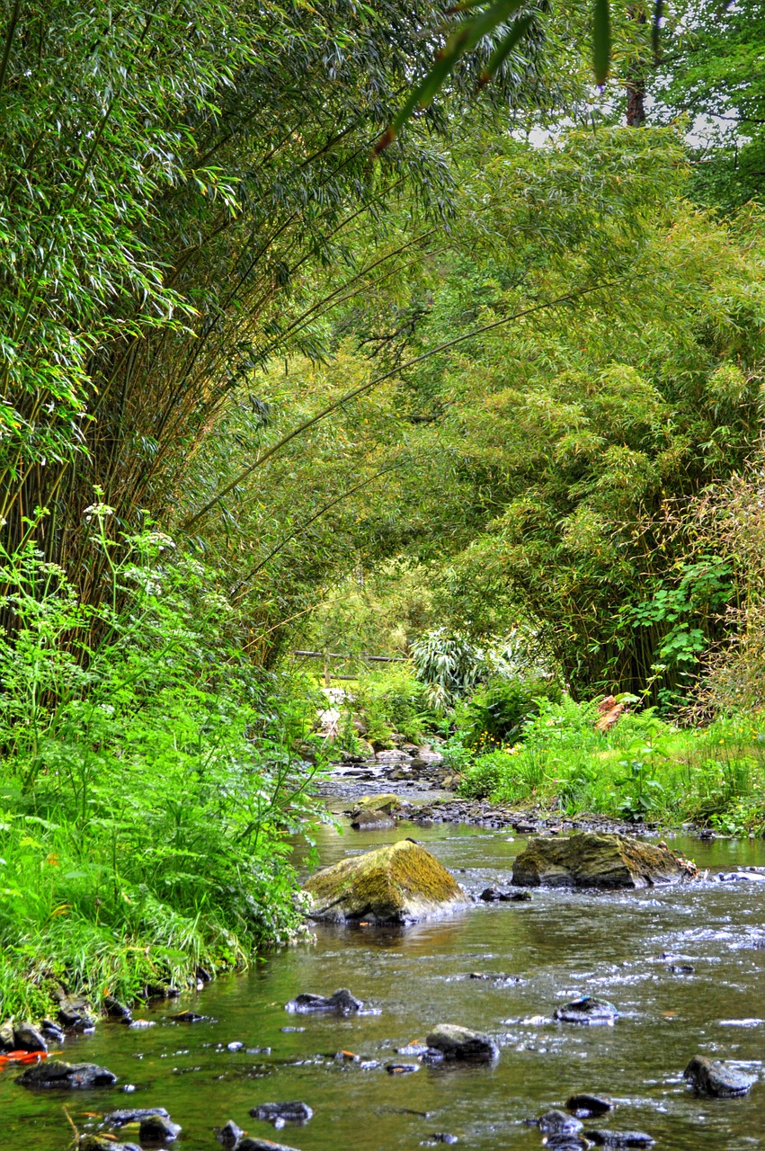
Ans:
{"type": "Polygon", "coordinates": [[[531,839],[513,864],[513,883],[521,887],[647,887],[695,876],[694,864],[668,847],[589,831],[531,839]]]}

